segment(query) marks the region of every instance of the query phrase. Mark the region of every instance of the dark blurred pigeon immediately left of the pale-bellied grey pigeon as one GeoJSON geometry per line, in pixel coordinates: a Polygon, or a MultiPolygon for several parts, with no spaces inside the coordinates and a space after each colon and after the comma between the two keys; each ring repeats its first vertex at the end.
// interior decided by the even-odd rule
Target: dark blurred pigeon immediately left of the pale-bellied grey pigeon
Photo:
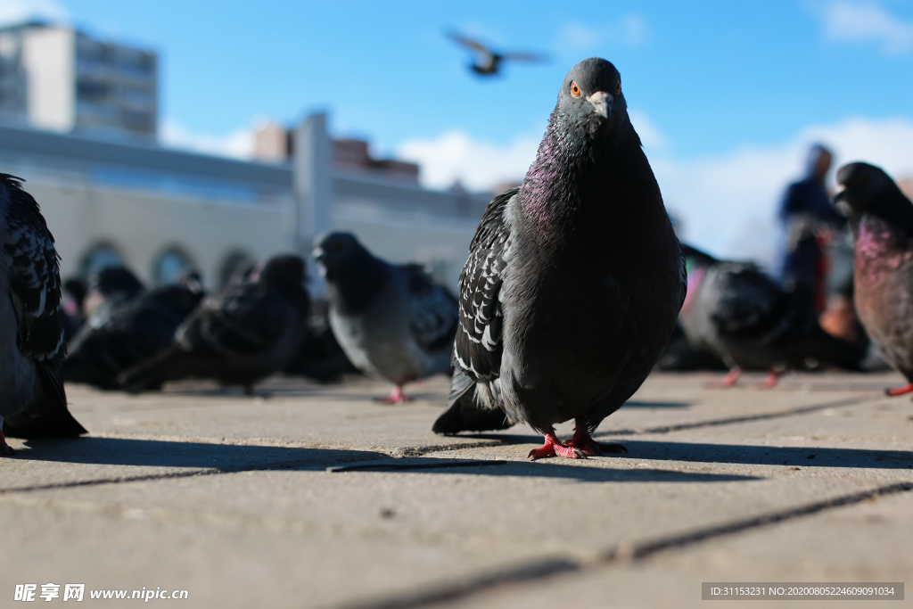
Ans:
{"type": "Polygon", "coordinates": [[[285,371],[318,383],[336,383],[343,374],[359,374],[352,365],[330,327],[330,302],[316,299],[311,303],[308,331],[294,362],[285,371]]]}

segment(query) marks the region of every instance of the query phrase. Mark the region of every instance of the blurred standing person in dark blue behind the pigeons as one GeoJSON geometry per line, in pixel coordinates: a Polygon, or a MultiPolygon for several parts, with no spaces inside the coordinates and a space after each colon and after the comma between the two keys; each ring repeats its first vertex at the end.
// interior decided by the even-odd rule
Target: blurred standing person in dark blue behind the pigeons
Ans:
{"type": "Polygon", "coordinates": [[[824,310],[827,303],[827,257],[824,248],[833,231],[845,226],[845,218],[831,205],[824,178],[834,154],[822,144],[809,150],[802,180],[790,184],[779,209],[782,226],[780,282],[783,288],[824,310]]]}

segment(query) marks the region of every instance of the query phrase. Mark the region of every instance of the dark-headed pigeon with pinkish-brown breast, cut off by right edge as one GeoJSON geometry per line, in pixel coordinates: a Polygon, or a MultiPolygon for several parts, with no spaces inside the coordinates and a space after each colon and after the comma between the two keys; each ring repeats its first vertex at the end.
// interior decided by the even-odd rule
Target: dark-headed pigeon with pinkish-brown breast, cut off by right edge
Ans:
{"type": "Polygon", "coordinates": [[[855,308],[869,338],[913,392],[913,203],[884,170],[849,163],[837,172],[834,204],[855,237],[855,308]]]}

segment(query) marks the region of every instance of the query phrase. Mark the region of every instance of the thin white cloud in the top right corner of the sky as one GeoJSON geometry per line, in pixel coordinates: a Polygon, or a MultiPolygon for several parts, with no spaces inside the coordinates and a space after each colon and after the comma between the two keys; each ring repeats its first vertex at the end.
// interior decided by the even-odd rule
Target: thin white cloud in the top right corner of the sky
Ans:
{"type": "Polygon", "coordinates": [[[824,6],[824,34],[838,41],[874,41],[888,55],[913,50],[913,23],[871,2],[838,0],[824,6]]]}

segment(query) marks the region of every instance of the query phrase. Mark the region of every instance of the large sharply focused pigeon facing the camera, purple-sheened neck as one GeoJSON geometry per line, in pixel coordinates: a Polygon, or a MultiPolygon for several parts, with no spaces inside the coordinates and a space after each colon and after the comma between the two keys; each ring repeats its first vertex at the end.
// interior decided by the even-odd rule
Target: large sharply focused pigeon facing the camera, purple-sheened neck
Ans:
{"type": "Polygon", "coordinates": [[[561,83],[523,184],[488,204],[470,244],[450,397],[433,430],[527,423],[545,438],[532,459],[623,451],[591,434],[644,383],[685,289],[618,70],[584,59],[561,83]],[[570,419],[561,443],[554,425],[570,419]]]}

